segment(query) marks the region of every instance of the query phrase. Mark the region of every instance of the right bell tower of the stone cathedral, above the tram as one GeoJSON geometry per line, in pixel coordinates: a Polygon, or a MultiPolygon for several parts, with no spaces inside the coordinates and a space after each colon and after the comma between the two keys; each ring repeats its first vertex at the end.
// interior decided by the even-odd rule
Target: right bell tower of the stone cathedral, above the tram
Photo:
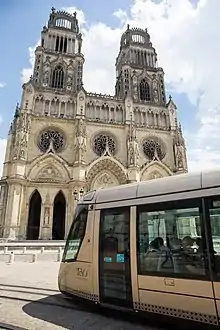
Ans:
{"type": "Polygon", "coordinates": [[[166,104],[164,72],[157,66],[157,53],[147,29],[127,26],[115,66],[117,97],[130,95],[135,103],[166,104]]]}

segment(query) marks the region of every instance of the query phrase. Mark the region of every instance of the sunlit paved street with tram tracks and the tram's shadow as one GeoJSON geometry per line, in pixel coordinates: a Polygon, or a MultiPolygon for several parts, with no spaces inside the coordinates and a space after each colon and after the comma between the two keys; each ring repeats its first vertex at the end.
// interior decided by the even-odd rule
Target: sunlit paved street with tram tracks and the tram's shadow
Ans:
{"type": "Polygon", "coordinates": [[[0,324],[28,330],[152,330],[128,317],[115,318],[114,311],[102,315],[63,298],[57,288],[58,269],[59,263],[52,261],[0,262],[0,324]]]}

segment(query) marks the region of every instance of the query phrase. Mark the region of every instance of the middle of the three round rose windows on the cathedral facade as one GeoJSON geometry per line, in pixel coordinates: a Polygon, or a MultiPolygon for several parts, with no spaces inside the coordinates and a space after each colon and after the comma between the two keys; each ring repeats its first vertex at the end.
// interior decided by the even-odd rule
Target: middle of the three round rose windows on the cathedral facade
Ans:
{"type": "Polygon", "coordinates": [[[114,155],[116,152],[116,143],[113,137],[106,134],[100,134],[95,137],[93,141],[93,149],[98,156],[103,155],[107,149],[107,146],[110,153],[114,155]]]}

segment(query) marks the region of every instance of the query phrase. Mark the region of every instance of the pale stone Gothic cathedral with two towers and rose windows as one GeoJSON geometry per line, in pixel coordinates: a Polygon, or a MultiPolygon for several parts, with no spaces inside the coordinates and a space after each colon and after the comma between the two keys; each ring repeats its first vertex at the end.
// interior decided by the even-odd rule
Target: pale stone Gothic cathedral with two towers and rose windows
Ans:
{"type": "Polygon", "coordinates": [[[2,238],[63,240],[85,192],[187,172],[177,107],[147,29],[122,34],[114,95],[85,90],[82,41],[76,13],[52,8],[8,133],[2,238]]]}

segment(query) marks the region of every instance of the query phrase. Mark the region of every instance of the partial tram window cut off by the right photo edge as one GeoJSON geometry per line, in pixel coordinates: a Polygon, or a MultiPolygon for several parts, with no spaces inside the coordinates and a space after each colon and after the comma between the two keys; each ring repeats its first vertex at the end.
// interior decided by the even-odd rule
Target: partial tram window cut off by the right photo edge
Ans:
{"type": "Polygon", "coordinates": [[[208,202],[215,274],[220,280],[220,197],[210,198],[208,202]]]}

